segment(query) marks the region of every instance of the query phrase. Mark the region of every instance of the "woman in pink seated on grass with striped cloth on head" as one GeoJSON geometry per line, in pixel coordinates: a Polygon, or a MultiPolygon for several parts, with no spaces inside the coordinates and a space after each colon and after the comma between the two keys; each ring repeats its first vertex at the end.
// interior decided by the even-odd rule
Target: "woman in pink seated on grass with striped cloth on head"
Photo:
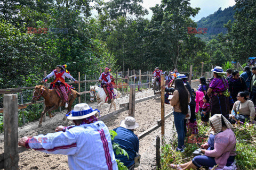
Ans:
{"type": "Polygon", "coordinates": [[[218,168],[230,166],[235,160],[236,137],[231,130],[232,125],[221,114],[215,114],[210,119],[210,125],[213,130],[213,135],[210,135],[209,140],[204,145],[201,145],[203,156],[196,156],[188,163],[181,165],[170,166],[174,169],[197,169],[202,166],[213,167],[217,164],[218,168]]]}

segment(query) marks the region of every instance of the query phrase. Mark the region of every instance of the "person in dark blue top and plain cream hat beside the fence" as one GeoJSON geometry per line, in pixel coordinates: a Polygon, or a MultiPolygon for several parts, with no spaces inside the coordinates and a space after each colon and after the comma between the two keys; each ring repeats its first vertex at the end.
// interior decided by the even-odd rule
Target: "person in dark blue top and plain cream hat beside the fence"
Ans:
{"type": "Polygon", "coordinates": [[[136,152],[139,152],[139,139],[137,135],[134,134],[134,129],[138,128],[139,124],[135,122],[134,117],[125,117],[125,120],[121,121],[120,127],[113,129],[117,133],[116,137],[112,141],[113,143],[119,144],[119,146],[124,149],[129,158],[124,155],[116,155],[116,159],[119,159],[128,169],[134,169],[134,157],[136,152]]]}

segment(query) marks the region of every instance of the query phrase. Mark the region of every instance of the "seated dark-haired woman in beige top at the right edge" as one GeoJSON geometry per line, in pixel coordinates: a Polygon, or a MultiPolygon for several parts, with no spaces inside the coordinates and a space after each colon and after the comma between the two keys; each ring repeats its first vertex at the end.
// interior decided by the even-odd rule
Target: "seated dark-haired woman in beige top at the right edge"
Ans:
{"type": "Polygon", "coordinates": [[[255,108],[253,102],[246,97],[243,91],[238,92],[237,101],[234,103],[232,114],[236,115],[236,119],[242,122],[250,120],[252,122],[255,117],[255,108]]]}

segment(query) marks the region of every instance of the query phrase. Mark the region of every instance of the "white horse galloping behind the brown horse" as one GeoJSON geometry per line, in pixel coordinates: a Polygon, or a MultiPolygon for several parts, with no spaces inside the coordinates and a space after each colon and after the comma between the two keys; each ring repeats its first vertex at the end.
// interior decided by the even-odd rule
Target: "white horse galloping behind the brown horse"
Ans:
{"type": "MultiPolygon", "coordinates": [[[[114,94],[116,95],[115,98],[119,98],[121,95],[121,93],[119,93],[116,89],[114,89],[114,94]]],[[[90,98],[91,102],[93,102],[94,97],[96,97],[97,103],[98,103],[97,109],[99,111],[100,111],[101,105],[108,103],[108,100],[109,100],[109,98],[108,98],[108,100],[105,102],[107,95],[106,95],[105,91],[103,90],[103,88],[98,87],[98,86],[90,86],[90,97],[91,97],[90,98]]],[[[113,106],[113,104],[114,104],[115,111],[116,111],[116,103],[115,103],[114,98],[111,100],[111,104],[110,104],[108,113],[110,112],[110,109],[113,106]]]]}

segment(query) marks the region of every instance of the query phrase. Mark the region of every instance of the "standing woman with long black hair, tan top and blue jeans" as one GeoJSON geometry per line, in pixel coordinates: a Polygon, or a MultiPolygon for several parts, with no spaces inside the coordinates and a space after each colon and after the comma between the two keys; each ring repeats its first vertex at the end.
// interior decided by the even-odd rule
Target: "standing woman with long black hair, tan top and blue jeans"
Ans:
{"type": "Polygon", "coordinates": [[[188,104],[190,101],[190,95],[188,89],[185,87],[182,79],[175,79],[175,88],[166,88],[164,84],[161,86],[166,92],[173,92],[173,97],[170,101],[170,105],[173,106],[174,112],[174,125],[178,133],[178,146],[177,151],[184,152],[184,140],[185,140],[185,127],[184,120],[188,114],[188,104]]]}

